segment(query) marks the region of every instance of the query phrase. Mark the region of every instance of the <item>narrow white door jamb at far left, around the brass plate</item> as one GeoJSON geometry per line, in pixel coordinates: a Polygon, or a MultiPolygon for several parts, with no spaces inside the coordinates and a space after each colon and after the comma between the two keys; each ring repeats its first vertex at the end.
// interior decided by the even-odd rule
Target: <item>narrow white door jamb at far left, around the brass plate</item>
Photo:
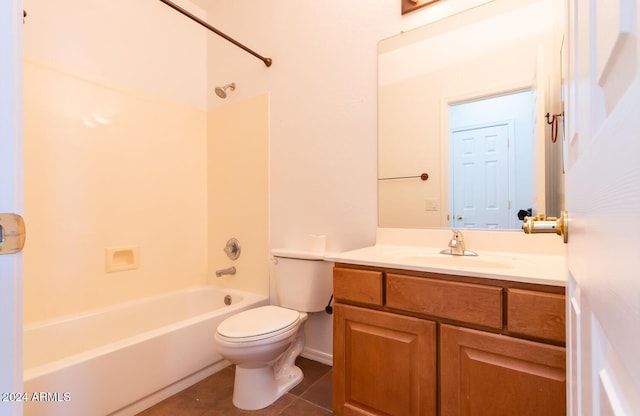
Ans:
{"type": "MultiPolygon", "coordinates": [[[[22,1],[0,2],[0,213],[21,213],[22,1]]],[[[0,255],[0,414],[22,404],[22,275],[20,254],[0,255]],[[12,395],[13,394],[13,395],[12,395]]]]}

